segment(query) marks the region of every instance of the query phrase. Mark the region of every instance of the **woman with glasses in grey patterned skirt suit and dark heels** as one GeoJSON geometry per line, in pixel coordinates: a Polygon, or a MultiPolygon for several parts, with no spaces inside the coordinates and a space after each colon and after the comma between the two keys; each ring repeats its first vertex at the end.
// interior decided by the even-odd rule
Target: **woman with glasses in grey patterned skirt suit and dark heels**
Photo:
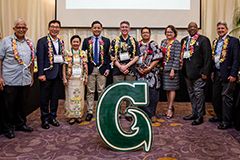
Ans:
{"type": "Polygon", "coordinates": [[[167,92],[168,110],[167,118],[174,115],[173,102],[176,96],[176,90],[179,89],[179,62],[181,53],[181,44],[176,39],[177,30],[173,25],[165,28],[166,39],[161,42],[161,50],[164,56],[163,69],[163,89],[167,92]]]}

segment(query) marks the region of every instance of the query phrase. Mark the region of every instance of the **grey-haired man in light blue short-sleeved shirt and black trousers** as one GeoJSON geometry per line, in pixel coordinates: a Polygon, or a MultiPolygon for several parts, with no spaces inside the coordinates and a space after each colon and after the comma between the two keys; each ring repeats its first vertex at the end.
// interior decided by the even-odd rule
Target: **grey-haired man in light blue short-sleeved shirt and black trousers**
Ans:
{"type": "Polygon", "coordinates": [[[0,46],[0,90],[3,90],[3,133],[15,137],[16,131],[32,132],[26,125],[24,106],[33,84],[33,43],[25,35],[28,30],[23,18],[18,18],[14,34],[3,39],[0,46]]]}

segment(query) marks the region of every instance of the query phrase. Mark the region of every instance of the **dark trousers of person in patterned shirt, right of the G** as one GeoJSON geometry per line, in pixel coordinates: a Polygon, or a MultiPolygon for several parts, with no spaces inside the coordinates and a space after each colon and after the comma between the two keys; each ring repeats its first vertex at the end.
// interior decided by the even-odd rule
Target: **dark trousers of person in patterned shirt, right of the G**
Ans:
{"type": "Polygon", "coordinates": [[[159,101],[159,89],[149,87],[149,104],[148,106],[139,108],[146,112],[149,118],[152,118],[156,113],[158,101],[159,101]]]}

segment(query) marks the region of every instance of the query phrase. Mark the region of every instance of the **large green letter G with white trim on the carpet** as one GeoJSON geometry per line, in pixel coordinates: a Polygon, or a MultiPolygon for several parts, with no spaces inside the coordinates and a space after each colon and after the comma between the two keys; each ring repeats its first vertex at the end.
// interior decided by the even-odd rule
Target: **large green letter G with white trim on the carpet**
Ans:
{"type": "Polygon", "coordinates": [[[137,107],[128,107],[134,118],[131,131],[124,131],[118,119],[120,102],[128,99],[136,106],[148,104],[146,82],[115,83],[105,89],[97,104],[97,129],[102,140],[112,149],[131,151],[143,147],[148,152],[152,146],[152,127],[147,115],[137,107]]]}

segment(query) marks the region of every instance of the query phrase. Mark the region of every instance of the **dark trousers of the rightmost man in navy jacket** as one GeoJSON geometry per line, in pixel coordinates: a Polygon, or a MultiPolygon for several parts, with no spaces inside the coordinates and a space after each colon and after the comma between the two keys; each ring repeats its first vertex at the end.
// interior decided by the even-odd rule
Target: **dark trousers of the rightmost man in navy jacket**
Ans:
{"type": "Polygon", "coordinates": [[[213,108],[217,117],[226,124],[232,123],[233,94],[236,83],[223,82],[220,72],[214,73],[213,108]]]}

